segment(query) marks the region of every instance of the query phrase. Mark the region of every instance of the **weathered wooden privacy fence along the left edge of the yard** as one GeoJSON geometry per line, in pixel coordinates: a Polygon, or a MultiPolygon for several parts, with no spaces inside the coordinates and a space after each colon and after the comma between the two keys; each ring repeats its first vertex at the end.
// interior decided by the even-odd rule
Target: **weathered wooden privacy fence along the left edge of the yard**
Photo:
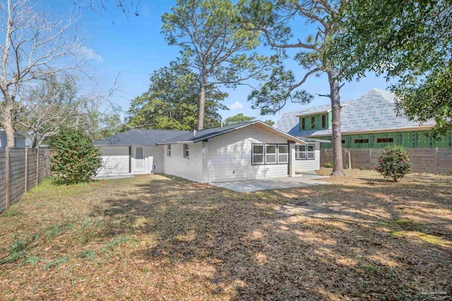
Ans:
{"type": "Polygon", "coordinates": [[[0,147],[0,212],[50,173],[50,149],[0,147]]]}

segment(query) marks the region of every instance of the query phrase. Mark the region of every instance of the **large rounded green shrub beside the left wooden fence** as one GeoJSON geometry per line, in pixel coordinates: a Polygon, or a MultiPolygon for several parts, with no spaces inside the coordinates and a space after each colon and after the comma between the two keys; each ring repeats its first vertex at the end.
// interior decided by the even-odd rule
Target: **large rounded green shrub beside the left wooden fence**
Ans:
{"type": "Polygon", "coordinates": [[[68,184],[87,182],[102,166],[100,151],[78,130],[63,130],[50,142],[54,176],[68,184]]]}

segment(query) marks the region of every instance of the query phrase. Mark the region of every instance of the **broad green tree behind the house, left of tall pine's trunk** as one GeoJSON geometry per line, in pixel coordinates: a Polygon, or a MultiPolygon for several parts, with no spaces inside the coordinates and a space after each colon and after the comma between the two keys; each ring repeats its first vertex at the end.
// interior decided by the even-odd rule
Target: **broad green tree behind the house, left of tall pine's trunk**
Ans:
{"type": "MultiPolygon", "coordinates": [[[[127,125],[133,128],[193,130],[198,125],[199,76],[181,61],[172,62],[150,76],[148,92],[131,101],[127,125]]],[[[218,110],[227,93],[210,87],[206,90],[205,123],[220,125],[218,110]]]]}

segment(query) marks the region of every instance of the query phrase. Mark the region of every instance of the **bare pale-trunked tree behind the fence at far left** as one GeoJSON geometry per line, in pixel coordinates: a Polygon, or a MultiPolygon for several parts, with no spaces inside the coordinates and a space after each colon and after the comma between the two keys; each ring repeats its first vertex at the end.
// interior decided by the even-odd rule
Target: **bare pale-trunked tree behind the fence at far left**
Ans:
{"type": "Polygon", "coordinates": [[[7,0],[0,4],[0,90],[4,100],[1,125],[7,143],[14,147],[14,111],[20,90],[36,80],[69,70],[80,70],[83,43],[74,14],[55,18],[52,12],[37,10],[28,0],[7,0]]]}

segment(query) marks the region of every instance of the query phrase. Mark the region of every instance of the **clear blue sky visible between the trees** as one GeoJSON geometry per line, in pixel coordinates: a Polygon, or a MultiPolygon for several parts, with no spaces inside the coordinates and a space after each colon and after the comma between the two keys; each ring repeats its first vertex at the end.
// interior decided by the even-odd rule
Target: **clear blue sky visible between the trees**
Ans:
{"type": "MultiPolygon", "coordinates": [[[[83,0],[77,2],[80,3],[80,1],[83,0]]],[[[52,0],[44,3],[57,13],[67,13],[74,7],[73,2],[52,0]]],[[[135,0],[135,3],[137,2],[135,0]]],[[[124,16],[119,8],[114,5],[115,3],[116,1],[109,0],[108,11],[82,9],[80,11],[80,24],[85,31],[86,46],[93,51],[91,65],[97,76],[102,78],[105,85],[109,85],[119,74],[121,92],[111,100],[126,111],[129,109],[131,99],[148,90],[150,73],[166,66],[179,55],[179,48],[167,45],[164,36],[160,34],[162,25],[160,16],[169,11],[176,1],[141,0],[138,7],[139,16],[134,15],[134,10],[124,16]]],[[[296,33],[307,30],[309,30],[309,27],[300,24],[296,33]]],[[[297,63],[287,61],[286,66],[294,70],[298,77],[303,75],[304,71],[297,63]]],[[[341,100],[346,102],[356,99],[374,87],[384,90],[387,86],[388,83],[384,78],[368,75],[367,78],[362,78],[359,82],[347,82],[341,90],[341,100]]],[[[304,89],[311,94],[328,93],[329,87],[326,75],[319,78],[311,77],[305,82],[304,89]]],[[[225,105],[230,107],[230,111],[221,111],[223,118],[244,113],[256,118],[276,121],[281,112],[329,104],[330,102],[326,97],[316,97],[313,102],[304,106],[288,103],[275,116],[260,116],[259,111],[251,109],[251,103],[247,102],[251,88],[241,86],[236,90],[226,89],[226,91],[230,96],[226,99],[225,105]]]]}

